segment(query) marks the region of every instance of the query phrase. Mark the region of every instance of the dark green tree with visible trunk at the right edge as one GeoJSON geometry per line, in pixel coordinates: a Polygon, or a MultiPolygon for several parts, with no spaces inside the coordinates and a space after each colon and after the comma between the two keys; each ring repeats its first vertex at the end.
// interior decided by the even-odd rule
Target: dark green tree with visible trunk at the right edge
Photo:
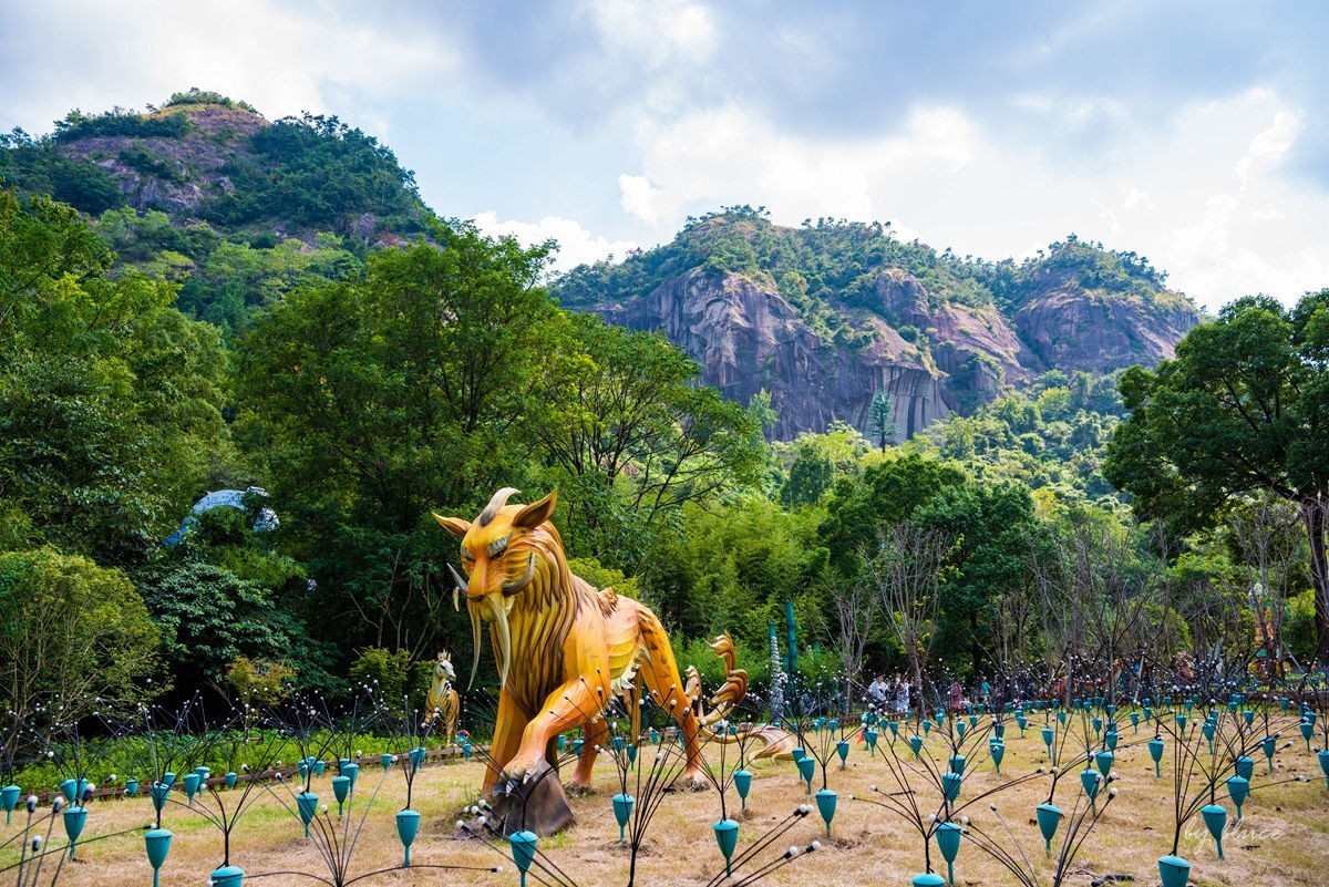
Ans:
{"type": "Polygon", "coordinates": [[[1104,475],[1142,517],[1197,526],[1257,491],[1296,503],[1310,543],[1318,652],[1329,652],[1329,289],[1290,309],[1239,299],[1176,360],[1122,377],[1131,417],[1104,475]]]}

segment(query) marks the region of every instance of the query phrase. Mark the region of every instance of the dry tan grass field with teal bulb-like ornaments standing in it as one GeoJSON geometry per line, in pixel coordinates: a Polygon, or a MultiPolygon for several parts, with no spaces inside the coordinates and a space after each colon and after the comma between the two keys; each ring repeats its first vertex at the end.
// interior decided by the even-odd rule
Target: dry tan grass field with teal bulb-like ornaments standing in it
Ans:
{"type": "MultiPolygon", "coordinates": [[[[998,777],[993,771],[991,762],[983,756],[978,769],[970,770],[971,775],[964,783],[960,802],[977,797],[1011,775],[1037,770],[1046,764],[1045,748],[1038,738],[1037,728],[1038,724],[1031,724],[1027,734],[1019,737],[1011,724],[1006,736],[1003,775],[998,777]]],[[[1292,729],[1289,734],[1296,736],[1296,730],[1292,729]]],[[[1115,767],[1119,778],[1114,783],[1119,794],[1106,810],[1096,830],[1083,843],[1073,866],[1073,874],[1063,883],[1087,886],[1110,874],[1120,875],[1123,880],[1134,879],[1135,884],[1159,883],[1155,860],[1171,850],[1172,789],[1168,766],[1172,754],[1170,750],[1164,757],[1163,778],[1156,778],[1144,748],[1147,738],[1150,737],[1144,729],[1134,734],[1128,725],[1123,728],[1115,767]]],[[[936,733],[929,737],[928,748],[933,754],[945,756],[936,733]]],[[[901,752],[909,754],[902,744],[901,752]]],[[[643,749],[643,758],[650,753],[649,748],[643,749]]],[[[1076,771],[1082,769],[1079,762],[1073,766],[1076,771]]],[[[892,785],[889,770],[881,758],[869,757],[859,745],[849,754],[848,767],[844,770],[837,767],[836,764],[829,773],[831,787],[840,793],[840,809],[831,838],[825,838],[825,829],[813,811],[784,835],[779,847],[805,845],[820,837],[821,848],[780,868],[763,883],[908,884],[910,875],[922,870],[921,839],[909,830],[905,821],[881,807],[851,799],[851,795],[864,795],[874,783],[880,783],[884,789],[892,785]]],[[[751,769],[756,778],[748,798],[747,814],[739,817],[740,850],[797,805],[811,802],[792,762],[758,762],[751,769]]],[[[332,801],[328,778],[324,775],[315,779],[314,790],[324,802],[330,802],[330,825],[336,826],[336,805],[332,801]]],[[[516,884],[517,872],[509,858],[501,856],[481,842],[460,841],[455,837],[459,814],[474,799],[481,778],[482,765],[478,761],[429,766],[421,771],[413,790],[413,806],[423,818],[420,835],[412,850],[412,862],[431,866],[498,864],[502,866],[501,872],[415,868],[385,872],[363,883],[516,884]]],[[[401,807],[405,793],[405,782],[399,771],[393,770],[384,775],[379,767],[365,766],[360,775],[359,799],[352,815],[356,817],[355,822],[359,822],[364,802],[379,786],[380,779],[383,779],[381,790],[368,807],[368,817],[352,855],[351,878],[373,868],[395,866],[401,859],[401,845],[393,826],[393,814],[401,807]]],[[[1229,831],[1224,839],[1225,859],[1217,859],[1213,842],[1199,817],[1187,826],[1180,855],[1192,862],[1192,883],[1200,886],[1326,883],[1329,790],[1314,754],[1308,754],[1304,744],[1297,740],[1292,748],[1278,752],[1272,775],[1264,758],[1257,756],[1252,786],[1244,819],[1237,825],[1236,817],[1229,817],[1229,831]],[[1290,779],[1296,775],[1305,775],[1308,781],[1264,787],[1273,781],[1290,779]]],[[[280,786],[276,790],[286,791],[280,786]]],[[[610,797],[617,790],[613,764],[602,757],[597,769],[595,790],[571,798],[577,823],[560,835],[541,841],[541,848],[577,884],[598,887],[627,883],[629,854],[618,843],[618,829],[610,810],[610,797]]],[[[1042,777],[1006,790],[993,801],[1029,854],[1041,883],[1051,884],[1053,863],[1045,859],[1042,839],[1033,815],[1035,805],[1043,801],[1046,794],[1047,777],[1042,777]]],[[[234,797],[235,793],[222,794],[227,802],[233,802],[234,797]]],[[[1078,785],[1073,778],[1065,778],[1058,786],[1058,803],[1069,811],[1076,797],[1079,797],[1078,785]]],[[[738,806],[736,799],[731,801],[738,806]]],[[[215,801],[207,803],[215,805],[215,801]]],[[[1231,809],[1231,802],[1228,806],[1231,809]]],[[[1001,830],[986,801],[974,803],[965,813],[985,831],[1001,830]]],[[[90,805],[84,838],[141,826],[150,819],[150,802],[142,798],[94,802],[90,805]]],[[[723,867],[710,827],[718,818],[719,799],[714,790],[670,793],[659,807],[638,858],[637,883],[661,887],[704,884],[723,867]]],[[[20,806],[13,823],[0,826],[3,839],[9,841],[19,834],[23,821],[20,806]]],[[[173,830],[175,837],[170,858],[161,874],[161,883],[166,887],[203,884],[207,872],[222,858],[219,833],[202,817],[175,805],[167,806],[163,825],[173,830]]],[[[351,833],[354,835],[354,827],[351,833]]],[[[53,845],[64,842],[58,825],[52,835],[53,845]]],[[[1061,835],[1054,843],[1054,851],[1061,843],[1059,839],[1061,835]]],[[[1011,850],[1015,848],[1010,837],[1005,837],[1003,842],[1011,850]]],[[[506,845],[500,847],[506,854],[506,845]]],[[[764,858],[775,855],[772,848],[764,858]]],[[[15,858],[16,845],[9,845],[0,856],[0,864],[8,866],[15,858]]],[[[944,872],[944,864],[936,850],[933,860],[933,864],[941,867],[944,872]]],[[[331,880],[327,863],[314,842],[303,837],[299,821],[267,793],[263,793],[235,830],[231,862],[246,870],[246,883],[271,887],[315,883],[308,876],[267,875],[267,872],[304,872],[331,880]],[[256,875],[264,876],[256,878],[256,875]]],[[[48,858],[40,878],[28,880],[33,874],[29,867],[23,883],[51,883],[53,872],[54,859],[48,858]]],[[[956,879],[957,883],[969,886],[995,887],[1019,883],[1010,872],[978,852],[968,838],[962,842],[956,863],[956,879]]],[[[0,874],[0,884],[5,883],[20,883],[16,870],[0,874]]],[[[80,845],[74,862],[64,863],[56,883],[68,887],[152,883],[152,870],[144,852],[141,831],[80,845]]]]}

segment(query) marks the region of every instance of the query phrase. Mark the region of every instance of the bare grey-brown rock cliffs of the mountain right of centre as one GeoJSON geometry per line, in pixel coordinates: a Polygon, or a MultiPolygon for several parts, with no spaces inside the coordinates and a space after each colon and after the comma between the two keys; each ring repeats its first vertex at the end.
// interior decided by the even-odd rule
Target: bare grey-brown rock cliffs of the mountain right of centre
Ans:
{"type": "Polygon", "coordinates": [[[1030,303],[1013,328],[995,308],[934,304],[897,268],[877,276],[873,293],[868,311],[837,307],[870,328],[863,347],[824,340],[777,292],[736,274],[692,270],[645,299],[595,311],[617,325],[663,331],[702,365],[703,382],[740,404],[767,389],[783,440],[835,420],[865,430],[878,390],[890,396],[904,440],[1051,366],[1107,372],[1156,363],[1195,323],[1193,311],[1177,312],[1155,328],[1143,309],[1058,292],[1030,303]]]}

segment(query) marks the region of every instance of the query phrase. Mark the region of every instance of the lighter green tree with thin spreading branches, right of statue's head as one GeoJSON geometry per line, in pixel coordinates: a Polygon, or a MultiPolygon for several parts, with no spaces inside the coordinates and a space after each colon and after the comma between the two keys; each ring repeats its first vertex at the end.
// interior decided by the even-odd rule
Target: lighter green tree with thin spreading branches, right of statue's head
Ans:
{"type": "Polygon", "coordinates": [[[663,336],[591,315],[560,315],[550,327],[542,408],[526,428],[574,493],[563,522],[574,539],[587,536],[586,551],[630,570],[683,505],[756,481],[766,450],[756,420],[695,385],[698,365],[663,336]]]}

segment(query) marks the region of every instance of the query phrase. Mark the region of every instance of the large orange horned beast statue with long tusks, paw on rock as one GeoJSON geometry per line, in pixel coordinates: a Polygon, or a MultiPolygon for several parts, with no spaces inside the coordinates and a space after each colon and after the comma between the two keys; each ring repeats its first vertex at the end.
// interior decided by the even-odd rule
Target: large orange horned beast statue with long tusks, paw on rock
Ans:
{"type": "Polygon", "coordinates": [[[585,730],[569,786],[589,786],[597,749],[609,736],[605,708],[621,697],[633,736],[639,736],[643,685],[679,725],[687,758],[682,778],[692,787],[704,785],[703,728],[747,693],[747,672],[735,668],[732,643],[722,636],[712,645],[728,673],[707,714],[698,700],[699,683],[684,685],[679,677],[655,613],[611,588],[595,590],[567,570],[562,539],[549,522],[557,490],[530,505],[508,505],[516,493],[498,490],[474,522],[433,515],[461,539],[466,578],[456,571],[453,578],[470,615],[470,680],[480,664],[481,621],[489,623],[498,665],[498,716],[482,785],[493,798],[492,825],[504,830],[524,825],[538,834],[567,826],[571,810],[561,783],[550,778],[557,777],[558,734],[585,730]]]}

